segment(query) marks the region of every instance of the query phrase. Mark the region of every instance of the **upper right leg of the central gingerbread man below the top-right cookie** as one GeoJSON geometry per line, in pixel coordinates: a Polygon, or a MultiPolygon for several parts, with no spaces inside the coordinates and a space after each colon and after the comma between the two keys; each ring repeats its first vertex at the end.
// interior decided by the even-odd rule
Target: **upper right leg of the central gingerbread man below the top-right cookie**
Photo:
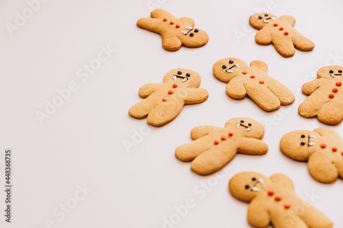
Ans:
{"type": "Polygon", "coordinates": [[[296,99],[291,90],[272,77],[268,77],[268,88],[280,100],[281,105],[289,105],[296,99]]]}

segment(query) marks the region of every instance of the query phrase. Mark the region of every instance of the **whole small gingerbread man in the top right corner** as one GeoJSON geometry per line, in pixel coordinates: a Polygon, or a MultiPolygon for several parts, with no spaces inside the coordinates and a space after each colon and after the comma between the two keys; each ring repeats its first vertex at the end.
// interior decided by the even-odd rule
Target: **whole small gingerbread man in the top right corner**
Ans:
{"type": "Polygon", "coordinates": [[[249,23],[259,29],[255,40],[259,45],[270,45],[283,57],[291,57],[295,53],[294,46],[301,51],[311,51],[314,43],[293,28],[296,19],[293,16],[280,16],[259,13],[250,16],[249,23]]]}

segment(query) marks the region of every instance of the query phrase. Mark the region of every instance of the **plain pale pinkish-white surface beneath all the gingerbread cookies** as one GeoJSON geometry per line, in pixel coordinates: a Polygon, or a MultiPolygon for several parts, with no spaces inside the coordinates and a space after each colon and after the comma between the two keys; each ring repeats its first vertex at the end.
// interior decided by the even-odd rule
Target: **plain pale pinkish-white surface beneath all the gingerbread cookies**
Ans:
{"type": "MultiPolygon", "coordinates": [[[[161,47],[158,34],[136,26],[139,18],[150,16],[145,0],[50,0],[13,36],[4,25],[14,23],[15,12],[22,12],[27,3],[1,1],[0,158],[3,162],[5,149],[12,149],[14,190],[12,223],[5,224],[1,214],[0,226],[40,228],[51,220],[55,227],[162,227],[163,217],[169,219],[176,213],[174,206],[191,198],[196,207],[175,227],[250,227],[248,204],[231,197],[227,187],[230,177],[251,170],[288,175],[301,198],[314,191],[320,196],[312,201],[315,207],[335,227],[343,227],[342,179],[318,183],[309,175],[307,163],[290,160],[279,149],[279,140],[289,131],[328,127],[316,118],[298,115],[298,105],[305,99],[299,89],[305,81],[316,79],[321,66],[343,65],[343,2],[269,2],[159,0],[161,8],[178,18],[194,18],[196,27],[209,34],[204,47],[169,52],[161,47]],[[297,50],[294,57],[283,58],[272,45],[255,43],[257,30],[247,24],[248,18],[270,5],[269,12],[296,18],[295,29],[314,41],[314,51],[297,50]],[[237,30],[246,36],[238,40],[233,33],[237,30]],[[75,72],[96,58],[102,45],[116,52],[87,81],[81,81],[75,72]],[[231,99],[226,84],[212,73],[213,64],[226,57],[247,64],[266,62],[269,75],[296,94],[295,103],[264,112],[248,97],[231,99]],[[163,127],[150,127],[145,119],[130,117],[129,108],[141,101],[140,86],[162,82],[167,71],[178,67],[200,73],[200,87],[209,91],[209,99],[186,105],[163,127]],[[56,90],[70,81],[78,83],[78,90],[40,125],[36,111],[44,111],[45,100],[51,102],[58,95],[56,90]],[[254,118],[265,126],[266,155],[237,155],[225,166],[230,170],[222,179],[196,175],[189,163],[174,157],[176,147],[191,142],[193,127],[224,127],[237,116],[254,118]],[[269,128],[268,121],[274,121],[269,128]],[[149,127],[150,133],[127,151],[124,140],[132,141],[140,127],[149,127]],[[201,199],[195,188],[202,181],[215,184],[201,199]],[[77,186],[84,184],[92,191],[58,220],[61,216],[52,212],[61,203],[71,202],[77,186]]],[[[330,128],[343,134],[342,124],[330,128]]],[[[2,163],[1,186],[3,167],[2,163]]],[[[0,208],[5,207],[4,197],[1,191],[0,208]]]]}

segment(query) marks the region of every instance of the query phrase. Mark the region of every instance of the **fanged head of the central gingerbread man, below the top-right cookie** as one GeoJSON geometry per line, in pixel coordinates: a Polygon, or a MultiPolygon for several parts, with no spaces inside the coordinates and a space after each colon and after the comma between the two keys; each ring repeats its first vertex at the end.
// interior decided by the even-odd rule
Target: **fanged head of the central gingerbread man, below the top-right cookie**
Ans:
{"type": "Polygon", "coordinates": [[[237,75],[241,75],[247,68],[246,63],[237,58],[224,58],[215,62],[213,74],[220,81],[228,82],[237,75]]]}

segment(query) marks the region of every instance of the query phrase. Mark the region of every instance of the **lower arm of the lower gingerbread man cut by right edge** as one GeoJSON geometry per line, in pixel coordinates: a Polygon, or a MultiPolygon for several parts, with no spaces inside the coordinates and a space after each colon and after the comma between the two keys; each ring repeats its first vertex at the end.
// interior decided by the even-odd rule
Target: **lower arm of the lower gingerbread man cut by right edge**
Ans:
{"type": "Polygon", "coordinates": [[[316,152],[309,157],[309,173],[317,181],[331,183],[338,179],[338,170],[329,157],[322,152],[316,152]]]}

